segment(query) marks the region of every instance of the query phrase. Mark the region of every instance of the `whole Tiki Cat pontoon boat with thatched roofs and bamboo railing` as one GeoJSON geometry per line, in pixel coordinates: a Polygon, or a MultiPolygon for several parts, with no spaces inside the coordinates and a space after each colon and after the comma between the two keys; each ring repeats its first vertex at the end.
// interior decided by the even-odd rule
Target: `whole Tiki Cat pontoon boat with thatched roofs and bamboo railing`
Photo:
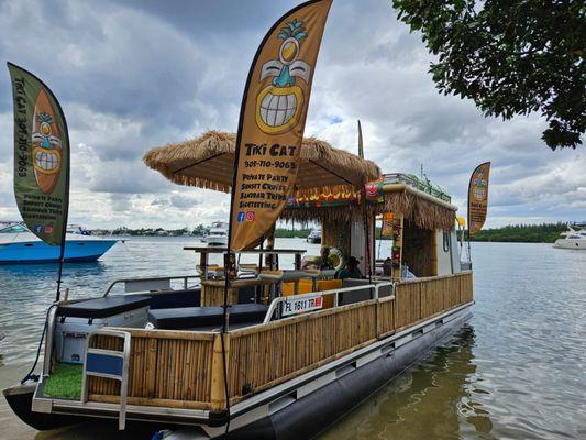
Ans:
{"type": "MultiPolygon", "coordinates": [[[[155,148],[145,163],[175,183],[228,193],[233,158],[234,135],[209,132],[155,148]]],[[[472,272],[461,267],[455,211],[427,182],[382,175],[306,139],[281,218],[320,222],[332,255],[354,256],[371,276],[303,268],[303,250],[268,239],[240,254],[222,333],[224,271],[212,260],[225,250],[188,248],[201,257],[192,275],[119,279],[98,298],[53,307],[41,377],[4,395],[37,429],[104,418],[121,429],[153,424],[159,438],[316,437],[469,317],[472,272]],[[378,265],[377,216],[394,239],[378,265]]]]}

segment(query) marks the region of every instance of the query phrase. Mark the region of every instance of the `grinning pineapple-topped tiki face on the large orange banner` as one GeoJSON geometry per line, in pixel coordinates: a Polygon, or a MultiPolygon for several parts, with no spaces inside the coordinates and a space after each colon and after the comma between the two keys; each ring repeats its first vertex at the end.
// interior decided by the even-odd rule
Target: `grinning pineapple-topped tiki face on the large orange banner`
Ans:
{"type": "Polygon", "coordinates": [[[283,40],[279,58],[266,62],[261,69],[259,81],[273,78],[256,98],[256,124],[265,133],[283,133],[299,122],[305,97],[296,80],[301,78],[309,84],[311,73],[309,64],[298,59],[305,37],[307,31],[302,21],[288,22],[277,35],[283,40]]]}

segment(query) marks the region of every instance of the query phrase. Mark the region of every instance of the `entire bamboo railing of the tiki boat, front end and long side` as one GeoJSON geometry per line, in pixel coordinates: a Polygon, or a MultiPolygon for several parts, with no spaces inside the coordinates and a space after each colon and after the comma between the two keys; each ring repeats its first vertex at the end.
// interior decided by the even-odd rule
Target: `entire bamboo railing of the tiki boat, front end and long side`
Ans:
{"type": "MultiPolygon", "coordinates": [[[[472,298],[472,273],[465,272],[400,282],[394,297],[230,331],[224,336],[230,403],[241,402],[472,298]]],[[[225,409],[221,334],[124,330],[132,336],[129,404],[225,409]]],[[[117,349],[112,346],[115,341],[100,336],[96,346],[117,349]]],[[[119,389],[114,381],[90,377],[90,400],[118,402],[119,389]]]]}

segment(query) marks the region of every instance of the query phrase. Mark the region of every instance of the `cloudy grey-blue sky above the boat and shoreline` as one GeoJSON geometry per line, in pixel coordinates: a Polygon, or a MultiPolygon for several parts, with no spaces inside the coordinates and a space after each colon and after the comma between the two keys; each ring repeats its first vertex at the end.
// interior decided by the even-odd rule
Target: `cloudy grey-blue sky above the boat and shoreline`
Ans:
{"type": "MultiPolygon", "coordinates": [[[[225,219],[225,195],[147,169],[153,146],[235,131],[258,43],[297,1],[0,1],[0,59],[38,75],[59,98],[71,141],[70,222],[89,228],[192,227],[225,219]]],[[[485,119],[438,94],[430,55],[388,0],[335,0],[318,62],[306,135],[365,154],[384,172],[420,164],[465,211],[467,180],[491,161],[488,227],[586,220],[586,155],[550,151],[539,116],[485,119]]],[[[12,194],[12,100],[0,75],[0,219],[12,194]]]]}

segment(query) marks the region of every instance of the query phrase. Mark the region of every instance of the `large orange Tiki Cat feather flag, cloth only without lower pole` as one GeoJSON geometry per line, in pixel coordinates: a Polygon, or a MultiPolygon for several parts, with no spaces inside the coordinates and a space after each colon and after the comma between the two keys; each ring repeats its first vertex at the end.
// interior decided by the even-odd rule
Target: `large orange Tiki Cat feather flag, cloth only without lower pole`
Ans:
{"type": "Polygon", "coordinates": [[[236,138],[230,251],[257,245],[295,188],[311,81],[332,0],[300,4],[265,35],[248,73],[236,138]]]}

